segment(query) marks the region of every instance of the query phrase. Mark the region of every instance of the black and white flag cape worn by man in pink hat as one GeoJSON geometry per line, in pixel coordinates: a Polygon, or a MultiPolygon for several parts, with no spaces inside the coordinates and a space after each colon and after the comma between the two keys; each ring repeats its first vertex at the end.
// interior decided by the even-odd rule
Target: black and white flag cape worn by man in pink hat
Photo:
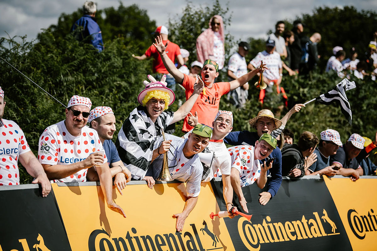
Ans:
{"type": "Polygon", "coordinates": [[[146,108],[139,105],[124,121],[115,146],[124,166],[127,166],[135,180],[146,175],[152,160],[153,145],[161,136],[161,128],[170,134],[174,132],[174,129],[168,128],[173,121],[173,115],[172,111],[164,111],[153,123],[146,108]]]}

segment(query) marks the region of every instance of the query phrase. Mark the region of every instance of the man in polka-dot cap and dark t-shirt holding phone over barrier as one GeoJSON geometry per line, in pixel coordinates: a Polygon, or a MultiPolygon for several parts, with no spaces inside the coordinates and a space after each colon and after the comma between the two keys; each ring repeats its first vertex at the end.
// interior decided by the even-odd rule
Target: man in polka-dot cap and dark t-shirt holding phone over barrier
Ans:
{"type": "Polygon", "coordinates": [[[321,132],[321,139],[318,147],[314,150],[317,161],[305,171],[305,175],[327,175],[334,176],[339,173],[339,167],[330,166],[330,155],[336,154],[339,146],[342,145],[339,132],[327,129],[321,132]]]}

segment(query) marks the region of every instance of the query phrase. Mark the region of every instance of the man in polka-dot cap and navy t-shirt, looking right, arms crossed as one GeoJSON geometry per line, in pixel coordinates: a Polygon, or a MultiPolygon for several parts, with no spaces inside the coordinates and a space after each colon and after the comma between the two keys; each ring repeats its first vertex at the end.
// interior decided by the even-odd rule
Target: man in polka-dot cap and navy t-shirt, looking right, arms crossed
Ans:
{"type": "MultiPolygon", "coordinates": [[[[98,133],[107,156],[107,164],[110,167],[111,176],[115,177],[114,185],[119,193],[123,195],[122,190],[126,187],[126,183],[131,180],[131,172],[123,165],[111,140],[116,130],[113,110],[108,106],[97,106],[90,111],[88,122],[89,127],[95,129],[98,133]]],[[[99,181],[98,173],[93,167],[88,169],[87,180],[99,181]]]]}

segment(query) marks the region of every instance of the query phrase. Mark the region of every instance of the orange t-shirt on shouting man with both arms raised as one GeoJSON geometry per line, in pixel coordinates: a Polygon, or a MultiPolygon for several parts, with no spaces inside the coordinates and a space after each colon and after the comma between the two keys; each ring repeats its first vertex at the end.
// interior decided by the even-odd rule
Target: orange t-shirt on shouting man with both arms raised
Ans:
{"type": "MultiPolygon", "coordinates": [[[[189,99],[191,94],[194,92],[195,78],[192,76],[187,76],[184,74],[182,85],[186,89],[186,100],[189,99]]],[[[198,122],[211,126],[212,122],[215,120],[216,114],[219,111],[220,98],[222,95],[227,94],[230,91],[229,82],[218,82],[214,83],[211,88],[205,88],[205,95],[203,91],[200,93],[198,99],[196,100],[194,106],[191,109],[191,113],[198,113],[198,122]]],[[[183,122],[182,131],[188,132],[193,129],[187,121],[189,118],[186,116],[183,122]]]]}

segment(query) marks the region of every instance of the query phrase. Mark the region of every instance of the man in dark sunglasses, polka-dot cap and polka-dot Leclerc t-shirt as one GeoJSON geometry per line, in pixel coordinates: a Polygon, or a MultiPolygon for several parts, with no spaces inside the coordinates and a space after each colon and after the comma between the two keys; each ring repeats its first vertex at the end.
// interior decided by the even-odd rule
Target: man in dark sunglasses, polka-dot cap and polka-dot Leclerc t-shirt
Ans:
{"type": "Polygon", "coordinates": [[[126,217],[112,201],[112,177],[100,138],[86,126],[91,106],[87,97],[75,95],[69,100],[66,119],[42,133],[38,160],[52,182],[86,181],[88,168],[95,166],[107,206],[126,217]]]}

